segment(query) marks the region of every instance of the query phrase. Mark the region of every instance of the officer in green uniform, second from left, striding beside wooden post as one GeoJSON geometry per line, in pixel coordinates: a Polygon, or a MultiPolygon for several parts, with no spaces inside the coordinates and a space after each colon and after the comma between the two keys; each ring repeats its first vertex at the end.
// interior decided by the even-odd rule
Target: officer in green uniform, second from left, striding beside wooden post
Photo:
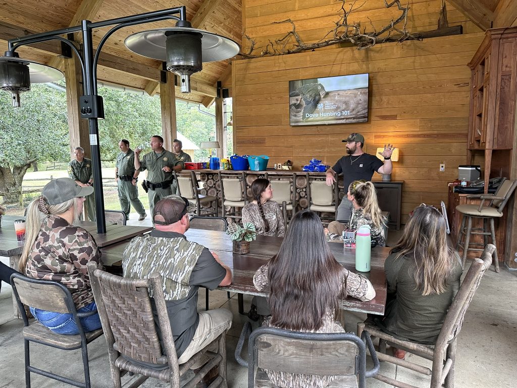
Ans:
{"type": "Polygon", "coordinates": [[[126,218],[129,218],[129,203],[131,203],[135,212],[140,215],[138,220],[142,221],[146,214],[144,205],[138,198],[136,182],[138,182],[140,171],[134,168],[134,152],[129,147],[129,140],[126,139],[120,140],[118,148],[120,148],[120,153],[117,155],[115,164],[115,181],[117,182],[120,208],[126,213],[126,218]]]}

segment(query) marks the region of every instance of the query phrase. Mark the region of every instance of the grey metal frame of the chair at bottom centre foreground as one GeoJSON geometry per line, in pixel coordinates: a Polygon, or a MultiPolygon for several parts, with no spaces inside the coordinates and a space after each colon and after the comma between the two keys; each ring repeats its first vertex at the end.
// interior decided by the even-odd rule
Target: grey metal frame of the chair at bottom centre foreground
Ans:
{"type": "MultiPolygon", "coordinates": [[[[237,347],[235,349],[235,359],[236,361],[248,368],[248,388],[253,388],[255,385],[255,365],[258,365],[257,361],[257,351],[258,348],[256,346],[257,339],[262,335],[275,335],[284,338],[292,338],[297,340],[307,340],[314,342],[325,342],[325,341],[352,341],[357,346],[359,350],[359,354],[355,357],[356,361],[356,377],[359,388],[366,387],[366,378],[373,377],[377,374],[379,370],[379,360],[377,359],[377,355],[375,353],[375,348],[373,346],[372,340],[368,332],[364,331],[361,335],[361,338],[351,333],[307,333],[307,332],[294,332],[290,330],[277,329],[275,327],[267,327],[262,326],[258,329],[251,331],[250,322],[246,322],[244,327],[242,327],[242,332],[240,333],[239,341],[237,342],[237,347]],[[248,339],[248,361],[245,361],[241,357],[242,346],[244,346],[244,342],[246,337],[249,336],[248,339]],[[373,368],[366,369],[366,349],[370,350],[373,360],[373,368]]],[[[260,365],[258,365],[260,367],[260,365]]]]}

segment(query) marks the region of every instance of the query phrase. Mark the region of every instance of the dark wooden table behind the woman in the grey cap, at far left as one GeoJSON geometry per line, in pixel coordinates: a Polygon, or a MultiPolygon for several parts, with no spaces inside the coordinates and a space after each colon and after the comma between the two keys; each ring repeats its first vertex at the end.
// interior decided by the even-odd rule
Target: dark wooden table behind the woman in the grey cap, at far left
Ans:
{"type": "MultiPolygon", "coordinates": [[[[14,233],[14,220],[24,219],[22,216],[2,216],[2,227],[0,228],[0,256],[8,257],[11,268],[18,270],[18,262],[23,250],[23,242],[16,240],[16,234],[14,233]]],[[[152,227],[136,227],[136,226],[125,226],[125,225],[106,225],[106,233],[97,233],[97,224],[90,221],[78,221],[74,225],[80,226],[86,229],[95,238],[95,242],[103,249],[123,242],[124,240],[130,240],[134,236],[143,234],[150,230],[152,227]]],[[[14,300],[14,316],[18,317],[18,305],[14,300]]]]}

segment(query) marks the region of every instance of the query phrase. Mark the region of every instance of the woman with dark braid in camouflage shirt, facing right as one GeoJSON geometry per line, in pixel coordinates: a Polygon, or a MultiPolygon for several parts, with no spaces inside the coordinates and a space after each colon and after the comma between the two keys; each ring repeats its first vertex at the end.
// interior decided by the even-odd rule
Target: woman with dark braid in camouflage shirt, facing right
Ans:
{"type": "Polygon", "coordinates": [[[258,178],[251,184],[253,201],[242,208],[242,223],[251,222],[259,235],[283,237],[284,217],[273,198],[273,190],[267,179],[258,178]]]}

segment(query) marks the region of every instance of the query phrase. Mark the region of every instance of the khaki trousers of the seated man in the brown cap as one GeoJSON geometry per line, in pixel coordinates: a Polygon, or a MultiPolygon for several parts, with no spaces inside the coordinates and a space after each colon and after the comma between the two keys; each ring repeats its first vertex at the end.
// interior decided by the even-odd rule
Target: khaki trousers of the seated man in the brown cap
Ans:
{"type": "MultiPolygon", "coordinates": [[[[224,308],[202,311],[199,314],[199,325],[192,337],[192,341],[183,354],[178,359],[178,364],[189,361],[195,353],[205,348],[211,341],[216,339],[221,333],[232,327],[232,312],[224,308]]],[[[199,368],[206,363],[208,357],[201,357],[201,360],[190,368],[199,368]]]]}

